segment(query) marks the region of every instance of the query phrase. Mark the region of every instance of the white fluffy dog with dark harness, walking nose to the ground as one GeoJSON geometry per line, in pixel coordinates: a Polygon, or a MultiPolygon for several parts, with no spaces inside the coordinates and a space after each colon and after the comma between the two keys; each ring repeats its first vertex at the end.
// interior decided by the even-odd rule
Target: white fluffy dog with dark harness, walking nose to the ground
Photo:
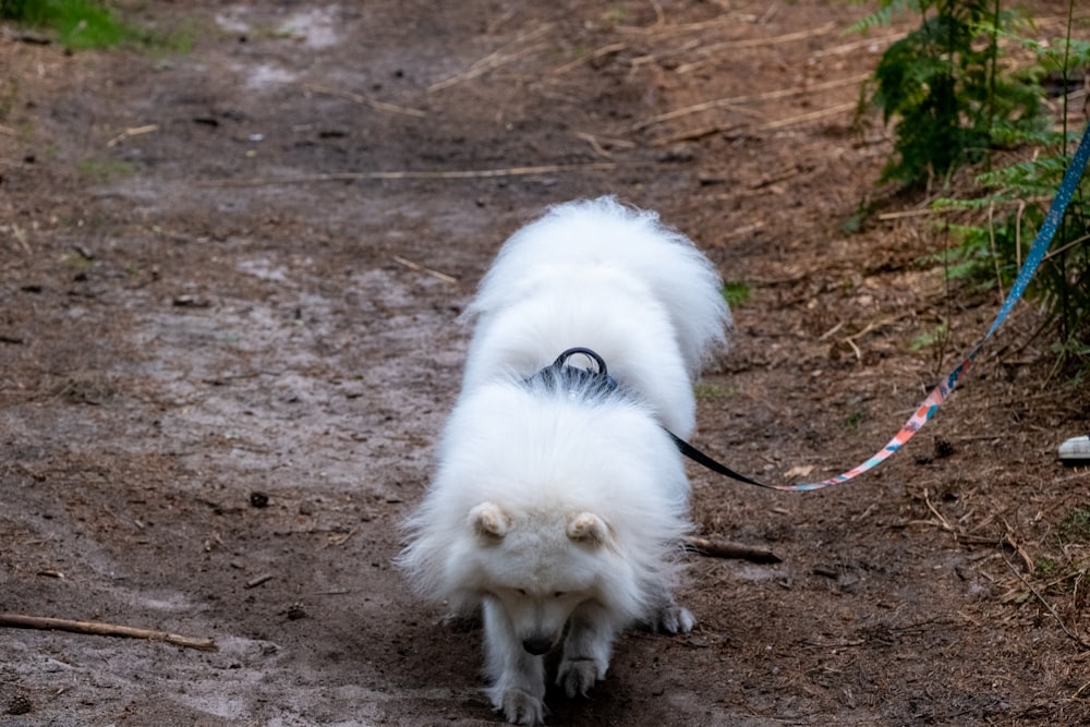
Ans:
{"type": "Polygon", "coordinates": [[[534,725],[561,640],[576,696],[627,626],[692,628],[671,594],[689,482],[664,427],[691,432],[692,379],[730,314],[687,238],[611,197],[517,232],[468,314],[462,393],[399,562],[422,595],[483,606],[488,695],[534,725]],[[593,353],[554,364],[573,347],[593,353]]]}

